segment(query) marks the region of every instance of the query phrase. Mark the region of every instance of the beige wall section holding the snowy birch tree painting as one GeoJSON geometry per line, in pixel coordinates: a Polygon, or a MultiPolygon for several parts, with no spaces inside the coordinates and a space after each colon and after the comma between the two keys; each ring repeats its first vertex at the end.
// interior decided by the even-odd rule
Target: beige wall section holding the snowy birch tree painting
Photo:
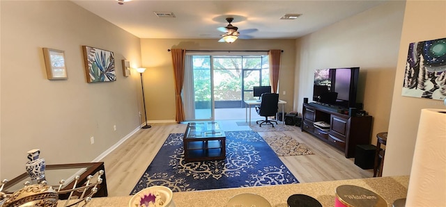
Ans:
{"type": "Polygon", "coordinates": [[[445,14],[446,1],[406,3],[383,176],[410,174],[421,109],[446,108],[440,100],[401,96],[408,45],[411,42],[446,38],[445,14]]]}

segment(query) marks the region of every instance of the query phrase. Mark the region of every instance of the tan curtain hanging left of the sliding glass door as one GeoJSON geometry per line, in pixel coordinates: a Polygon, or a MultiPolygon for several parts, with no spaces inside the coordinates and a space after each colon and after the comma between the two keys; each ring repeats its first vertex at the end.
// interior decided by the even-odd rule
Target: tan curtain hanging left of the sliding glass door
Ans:
{"type": "Polygon", "coordinates": [[[183,90],[184,82],[184,61],[186,56],[185,49],[171,49],[172,63],[174,65],[174,79],[175,79],[175,105],[176,115],[175,121],[177,123],[185,120],[183,99],[181,99],[181,90],[183,90]]]}

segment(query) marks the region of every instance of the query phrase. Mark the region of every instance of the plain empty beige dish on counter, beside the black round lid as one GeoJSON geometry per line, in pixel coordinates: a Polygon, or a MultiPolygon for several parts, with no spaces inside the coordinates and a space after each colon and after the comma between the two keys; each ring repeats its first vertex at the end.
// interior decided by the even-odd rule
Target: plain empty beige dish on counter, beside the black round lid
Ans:
{"type": "Polygon", "coordinates": [[[238,194],[227,204],[228,207],[271,207],[270,202],[264,197],[253,193],[238,194]]]}

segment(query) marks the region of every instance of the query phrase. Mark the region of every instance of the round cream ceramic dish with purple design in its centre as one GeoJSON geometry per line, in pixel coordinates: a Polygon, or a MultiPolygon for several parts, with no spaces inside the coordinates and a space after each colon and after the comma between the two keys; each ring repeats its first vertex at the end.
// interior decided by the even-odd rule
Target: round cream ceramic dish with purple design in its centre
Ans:
{"type": "MultiPolygon", "coordinates": [[[[175,206],[174,205],[174,201],[172,201],[172,190],[170,190],[167,187],[164,186],[152,186],[149,188],[144,188],[143,190],[140,190],[139,192],[137,192],[136,194],[133,195],[133,197],[130,199],[130,201],[128,202],[128,206],[129,207],[148,207],[146,206],[146,204],[144,204],[144,202],[141,204],[141,199],[144,199],[144,197],[148,198],[149,195],[153,198],[151,200],[155,199],[155,195],[159,194],[160,199],[162,200],[162,207],[164,206],[175,206]]],[[[155,205],[151,205],[151,206],[155,206],[155,205]]],[[[160,205],[157,205],[160,206],[160,205]]]]}

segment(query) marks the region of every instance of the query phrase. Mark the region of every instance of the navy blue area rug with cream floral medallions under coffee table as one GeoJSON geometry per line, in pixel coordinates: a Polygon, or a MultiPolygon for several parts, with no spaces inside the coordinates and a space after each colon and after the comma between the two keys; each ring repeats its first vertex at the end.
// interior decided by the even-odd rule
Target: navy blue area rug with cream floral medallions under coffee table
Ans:
{"type": "Polygon", "coordinates": [[[299,183],[254,131],[226,131],[226,159],[186,163],[183,133],[171,133],[130,194],[153,185],[173,192],[299,183]]]}

